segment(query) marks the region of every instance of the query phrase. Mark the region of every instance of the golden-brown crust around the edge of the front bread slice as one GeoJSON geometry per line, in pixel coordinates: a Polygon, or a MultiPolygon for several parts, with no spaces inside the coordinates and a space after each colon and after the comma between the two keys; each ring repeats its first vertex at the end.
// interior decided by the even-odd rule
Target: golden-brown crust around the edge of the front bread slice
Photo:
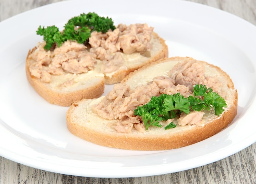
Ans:
{"type": "MultiPolygon", "coordinates": [[[[165,62],[168,59],[157,61],[154,64],[165,62]]],[[[192,60],[193,58],[175,57],[171,59],[192,60]]],[[[148,66],[150,65],[144,66],[137,71],[140,72],[148,66]]],[[[214,65],[211,65],[211,67],[216,68],[222,75],[224,75],[227,78],[229,88],[234,90],[234,84],[230,79],[229,75],[226,72],[222,71],[220,67],[214,65]]],[[[128,75],[122,82],[126,82],[127,80],[129,80],[129,77],[132,75],[136,75],[135,72],[128,75]]],[[[237,114],[237,90],[234,90],[233,98],[233,102],[229,105],[229,109],[225,110],[218,118],[215,118],[210,122],[207,122],[205,126],[191,126],[189,130],[180,130],[174,134],[170,133],[147,135],[144,133],[110,133],[107,130],[97,130],[97,128],[91,128],[85,126],[83,123],[81,124],[76,122],[76,119],[74,119],[74,111],[76,110],[76,108],[78,108],[79,105],[82,103],[88,103],[89,105],[91,100],[83,100],[72,104],[72,106],[67,111],[67,128],[68,130],[70,130],[72,134],[76,135],[77,137],[80,137],[82,139],[85,139],[87,141],[90,141],[94,144],[98,144],[101,146],[108,146],[112,148],[120,148],[127,150],[169,150],[195,144],[199,141],[202,141],[217,134],[218,132],[226,128],[229,125],[229,123],[233,121],[237,114]]]]}

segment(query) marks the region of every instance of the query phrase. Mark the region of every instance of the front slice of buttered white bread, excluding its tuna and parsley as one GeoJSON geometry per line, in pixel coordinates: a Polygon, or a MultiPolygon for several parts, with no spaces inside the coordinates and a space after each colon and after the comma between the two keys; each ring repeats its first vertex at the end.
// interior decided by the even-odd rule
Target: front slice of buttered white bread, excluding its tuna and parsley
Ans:
{"type": "MultiPolygon", "coordinates": [[[[193,58],[174,57],[159,60],[130,73],[121,83],[131,89],[152,81],[155,76],[167,76],[168,71],[178,62],[193,61],[193,58]]],[[[165,130],[164,127],[151,126],[145,132],[132,129],[130,133],[119,133],[110,125],[116,120],[99,117],[92,111],[92,106],[101,102],[98,99],[83,99],[75,102],[67,111],[67,128],[82,139],[102,146],[128,150],[168,150],[188,146],[207,139],[227,127],[237,114],[237,91],[229,75],[219,67],[204,61],[205,75],[216,76],[222,83],[220,91],[227,102],[227,108],[217,116],[214,112],[206,113],[204,126],[178,126],[165,130]]]]}

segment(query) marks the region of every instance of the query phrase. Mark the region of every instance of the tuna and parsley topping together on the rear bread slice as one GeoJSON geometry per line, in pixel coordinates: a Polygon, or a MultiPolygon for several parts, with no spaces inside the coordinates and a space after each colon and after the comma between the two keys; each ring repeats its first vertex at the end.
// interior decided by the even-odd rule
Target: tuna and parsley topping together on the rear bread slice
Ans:
{"type": "Polygon", "coordinates": [[[144,54],[151,49],[153,27],[147,24],[113,26],[111,18],[96,13],[70,19],[61,32],[56,26],[38,28],[44,36],[28,58],[32,76],[51,82],[52,75],[80,74],[90,70],[115,72],[126,54],[144,54]],[[100,67],[97,67],[100,65],[100,67]]]}

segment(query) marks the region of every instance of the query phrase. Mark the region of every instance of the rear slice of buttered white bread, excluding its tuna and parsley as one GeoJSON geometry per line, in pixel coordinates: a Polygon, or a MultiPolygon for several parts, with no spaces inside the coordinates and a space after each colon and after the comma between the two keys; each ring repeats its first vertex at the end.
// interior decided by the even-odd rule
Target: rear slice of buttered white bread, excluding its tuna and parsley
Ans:
{"type": "Polygon", "coordinates": [[[52,75],[52,81],[49,83],[43,82],[40,78],[31,75],[29,66],[35,61],[29,57],[34,49],[29,50],[26,59],[26,75],[31,86],[36,92],[42,96],[46,101],[52,104],[61,106],[70,106],[74,101],[80,99],[93,99],[101,96],[104,92],[104,83],[113,84],[119,83],[130,72],[137,70],[139,67],[152,63],[161,58],[168,57],[168,47],[165,40],[153,32],[150,40],[152,49],[150,56],[145,56],[139,53],[123,54],[125,63],[119,70],[111,73],[101,73],[101,61],[97,61],[94,70],[88,73],[71,74],[65,73],[61,75],[52,75]],[[72,85],[62,85],[68,81],[73,80],[72,85]],[[61,87],[60,87],[61,86],[61,87]]]}

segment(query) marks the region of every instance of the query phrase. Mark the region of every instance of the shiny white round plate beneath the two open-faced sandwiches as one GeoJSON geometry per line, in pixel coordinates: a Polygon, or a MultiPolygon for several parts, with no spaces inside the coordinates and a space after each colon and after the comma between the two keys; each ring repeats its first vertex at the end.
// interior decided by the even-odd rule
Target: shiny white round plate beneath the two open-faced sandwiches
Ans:
{"type": "Polygon", "coordinates": [[[0,155],[87,177],[173,173],[232,155],[256,141],[255,33],[256,27],[245,20],[181,0],[64,1],[9,18],[0,23],[0,155]],[[65,124],[67,108],[50,105],[28,84],[25,58],[42,40],[36,35],[39,25],[63,27],[69,18],[89,11],[111,17],[116,25],[146,22],[166,39],[169,56],[192,56],[220,66],[238,89],[234,122],[209,139],[166,151],[105,148],[72,135],[65,124]]]}

